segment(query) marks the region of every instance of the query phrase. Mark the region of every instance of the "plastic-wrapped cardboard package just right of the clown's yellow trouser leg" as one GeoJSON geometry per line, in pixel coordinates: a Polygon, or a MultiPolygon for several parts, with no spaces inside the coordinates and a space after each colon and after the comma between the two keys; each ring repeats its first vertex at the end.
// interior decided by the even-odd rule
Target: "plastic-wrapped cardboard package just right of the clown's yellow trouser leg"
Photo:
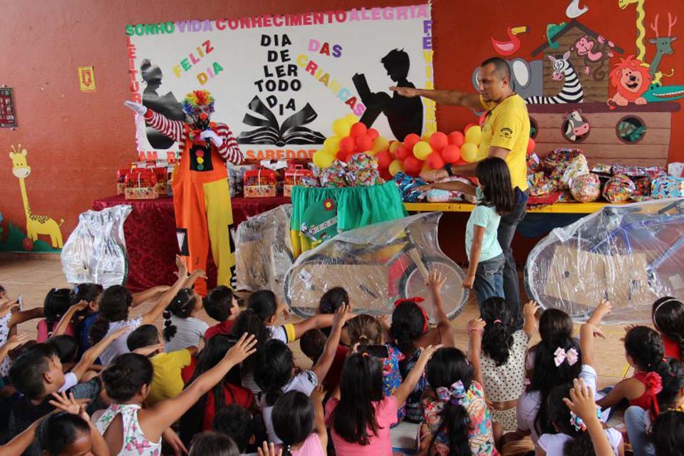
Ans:
{"type": "Polygon", "coordinates": [[[237,289],[268,289],[284,299],[283,281],[294,262],[291,215],[292,204],[283,204],[239,224],[235,233],[237,289]]]}

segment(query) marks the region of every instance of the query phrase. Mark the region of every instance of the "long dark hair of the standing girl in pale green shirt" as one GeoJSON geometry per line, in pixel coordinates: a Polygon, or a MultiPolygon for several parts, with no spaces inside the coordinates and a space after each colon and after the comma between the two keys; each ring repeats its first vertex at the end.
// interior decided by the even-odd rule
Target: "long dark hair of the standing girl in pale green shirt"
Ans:
{"type": "Polygon", "coordinates": [[[515,196],[511,185],[511,173],[504,160],[499,157],[485,158],[477,164],[475,175],[484,187],[484,195],[477,204],[494,207],[499,215],[513,212],[515,196]]]}

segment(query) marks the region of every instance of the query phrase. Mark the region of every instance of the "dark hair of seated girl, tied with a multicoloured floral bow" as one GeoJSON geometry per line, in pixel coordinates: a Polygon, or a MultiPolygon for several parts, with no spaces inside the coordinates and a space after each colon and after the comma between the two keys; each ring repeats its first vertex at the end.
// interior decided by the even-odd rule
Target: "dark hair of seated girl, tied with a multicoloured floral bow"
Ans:
{"type": "MultiPolygon", "coordinates": [[[[458,348],[440,348],[435,351],[425,368],[427,383],[432,390],[437,388],[450,389],[457,381],[463,383],[467,391],[472,383],[472,370],[465,358],[465,354],[458,348]]],[[[468,428],[470,427],[470,415],[463,405],[452,403],[448,400],[442,412],[440,427],[435,435],[441,432],[449,436],[450,456],[470,456],[470,443],[468,442],[468,428]]],[[[432,445],[435,443],[433,436],[428,455],[432,455],[432,445]]]]}

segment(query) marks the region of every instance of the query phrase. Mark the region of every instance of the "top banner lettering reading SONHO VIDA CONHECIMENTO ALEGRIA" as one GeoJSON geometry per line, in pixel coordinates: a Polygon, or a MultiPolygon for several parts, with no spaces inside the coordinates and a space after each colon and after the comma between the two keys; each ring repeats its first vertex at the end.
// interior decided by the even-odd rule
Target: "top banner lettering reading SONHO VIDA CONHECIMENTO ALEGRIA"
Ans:
{"type": "Polygon", "coordinates": [[[206,21],[161,22],[159,24],[128,24],[126,35],[157,35],[179,31],[198,32],[236,30],[237,28],[261,28],[283,26],[313,26],[351,21],[400,21],[407,19],[430,19],[427,5],[386,6],[384,8],[361,8],[351,11],[321,11],[284,15],[264,15],[242,19],[216,19],[206,21]]]}

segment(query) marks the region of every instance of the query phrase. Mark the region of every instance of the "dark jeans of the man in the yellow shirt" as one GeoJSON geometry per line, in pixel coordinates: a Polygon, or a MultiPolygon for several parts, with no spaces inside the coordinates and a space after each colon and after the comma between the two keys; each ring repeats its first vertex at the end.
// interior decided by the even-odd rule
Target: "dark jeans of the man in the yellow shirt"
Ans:
{"type": "Polygon", "coordinates": [[[515,207],[513,212],[501,217],[499,222],[499,232],[497,239],[499,245],[504,251],[504,296],[506,304],[511,311],[514,318],[513,326],[516,329],[522,329],[524,323],[522,319],[522,306],[520,305],[520,287],[518,282],[518,271],[515,267],[515,259],[513,258],[513,249],[511,242],[518,224],[525,217],[525,209],[527,208],[527,199],[529,198],[529,191],[522,192],[518,187],[515,187],[515,207]]]}

